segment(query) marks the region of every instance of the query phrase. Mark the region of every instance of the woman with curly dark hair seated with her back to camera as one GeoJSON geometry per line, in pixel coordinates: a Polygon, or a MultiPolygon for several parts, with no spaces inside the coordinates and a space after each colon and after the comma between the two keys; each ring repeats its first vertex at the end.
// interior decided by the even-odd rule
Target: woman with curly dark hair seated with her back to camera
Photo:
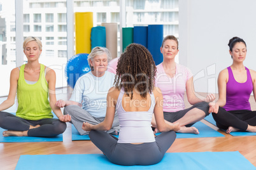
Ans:
{"type": "Polygon", "coordinates": [[[166,124],[162,110],[162,93],[154,87],[156,67],[152,55],[140,44],[130,44],[120,56],[115,87],[108,91],[106,118],[97,125],[83,123],[90,140],[114,164],[125,166],[157,164],[171,147],[179,124],[166,124]],[[119,138],[106,133],[117,109],[119,138]],[[154,136],[151,121],[155,115],[154,136]]]}

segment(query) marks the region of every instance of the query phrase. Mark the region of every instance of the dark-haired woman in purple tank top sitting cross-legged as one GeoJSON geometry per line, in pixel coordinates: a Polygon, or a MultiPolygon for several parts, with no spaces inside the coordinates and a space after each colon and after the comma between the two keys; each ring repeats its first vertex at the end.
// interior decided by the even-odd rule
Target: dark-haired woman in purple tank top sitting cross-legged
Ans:
{"type": "Polygon", "coordinates": [[[229,40],[229,53],[233,63],[218,75],[218,101],[210,103],[218,128],[232,131],[256,132],[256,111],[249,103],[253,91],[256,100],[256,72],[243,65],[246,43],[239,37],[229,40]]]}

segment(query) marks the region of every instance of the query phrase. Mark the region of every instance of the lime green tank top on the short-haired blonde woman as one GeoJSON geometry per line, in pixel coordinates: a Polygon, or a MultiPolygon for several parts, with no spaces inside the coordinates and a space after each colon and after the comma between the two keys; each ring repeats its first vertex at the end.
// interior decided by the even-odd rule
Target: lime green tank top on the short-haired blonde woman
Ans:
{"type": "Polygon", "coordinates": [[[35,84],[27,84],[24,79],[25,65],[20,67],[18,77],[16,115],[23,119],[38,121],[52,118],[52,108],[48,100],[48,82],[45,79],[45,65],[40,66],[39,79],[35,84]]]}

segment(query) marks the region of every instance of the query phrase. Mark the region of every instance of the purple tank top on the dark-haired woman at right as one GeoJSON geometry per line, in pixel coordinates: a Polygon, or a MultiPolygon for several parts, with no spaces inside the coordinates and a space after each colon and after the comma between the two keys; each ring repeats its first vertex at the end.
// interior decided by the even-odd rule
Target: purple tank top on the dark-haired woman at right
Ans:
{"type": "Polygon", "coordinates": [[[249,98],[252,93],[253,84],[250,70],[246,69],[246,82],[237,82],[231,67],[227,67],[229,71],[229,81],[227,82],[226,104],[223,108],[225,110],[251,110],[249,98]]]}

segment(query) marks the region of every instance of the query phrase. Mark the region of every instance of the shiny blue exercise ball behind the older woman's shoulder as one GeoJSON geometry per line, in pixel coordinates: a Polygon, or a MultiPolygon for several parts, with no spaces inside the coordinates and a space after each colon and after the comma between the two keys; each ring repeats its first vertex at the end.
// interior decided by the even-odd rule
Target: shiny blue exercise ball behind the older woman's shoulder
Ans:
{"type": "Polygon", "coordinates": [[[72,56],[65,67],[65,76],[68,82],[68,85],[71,88],[75,87],[76,81],[81,77],[83,74],[87,74],[90,72],[90,66],[87,61],[89,54],[81,53],[75,56],[72,56]]]}

